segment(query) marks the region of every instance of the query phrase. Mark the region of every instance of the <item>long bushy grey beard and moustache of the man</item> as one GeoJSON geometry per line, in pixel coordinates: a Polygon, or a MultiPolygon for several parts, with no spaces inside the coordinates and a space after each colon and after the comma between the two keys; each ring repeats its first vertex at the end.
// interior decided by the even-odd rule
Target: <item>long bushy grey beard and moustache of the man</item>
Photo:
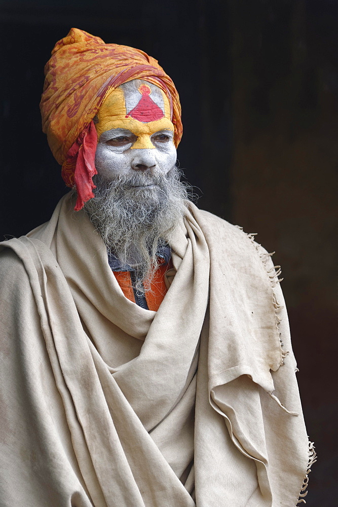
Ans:
{"type": "Polygon", "coordinates": [[[133,288],[144,294],[159,266],[158,248],[183,219],[187,186],[176,166],[167,175],[147,169],[111,182],[93,179],[95,197],[84,208],[108,251],[135,270],[133,288]]]}

